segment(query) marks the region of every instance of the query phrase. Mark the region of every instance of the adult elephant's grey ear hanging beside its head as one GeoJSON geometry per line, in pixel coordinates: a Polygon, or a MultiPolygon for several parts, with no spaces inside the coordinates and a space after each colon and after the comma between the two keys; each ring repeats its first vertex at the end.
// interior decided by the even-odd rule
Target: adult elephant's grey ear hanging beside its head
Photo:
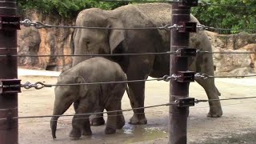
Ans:
{"type": "MultiPolygon", "coordinates": [[[[122,21],[119,18],[109,17],[106,18],[109,28],[124,28],[122,21]]],[[[125,39],[125,30],[110,30],[109,43],[110,53],[112,54],[115,48],[125,39]]]]}

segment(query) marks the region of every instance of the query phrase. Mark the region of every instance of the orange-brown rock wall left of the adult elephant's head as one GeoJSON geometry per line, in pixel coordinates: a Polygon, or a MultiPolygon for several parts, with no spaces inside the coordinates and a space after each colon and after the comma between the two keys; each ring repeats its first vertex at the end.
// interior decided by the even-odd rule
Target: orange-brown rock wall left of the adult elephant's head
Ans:
{"type": "MultiPolygon", "coordinates": [[[[55,15],[40,14],[36,11],[26,12],[22,19],[43,22],[50,25],[74,25],[73,19],[62,19],[55,15]]],[[[70,38],[73,29],[21,27],[18,30],[18,54],[21,55],[50,55],[71,54],[70,38]]],[[[62,70],[69,67],[71,57],[20,57],[18,66],[38,70],[62,70]]]]}

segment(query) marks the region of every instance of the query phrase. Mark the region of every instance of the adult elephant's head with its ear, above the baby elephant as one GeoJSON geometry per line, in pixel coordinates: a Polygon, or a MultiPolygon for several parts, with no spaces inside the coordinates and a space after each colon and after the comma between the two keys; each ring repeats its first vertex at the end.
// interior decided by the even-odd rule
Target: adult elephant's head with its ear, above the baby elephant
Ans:
{"type": "MultiPolygon", "coordinates": [[[[78,14],[76,26],[103,28],[76,29],[73,36],[74,54],[112,54],[124,40],[124,30],[111,29],[123,28],[122,21],[105,13],[106,11],[100,9],[90,9],[78,14]]],[[[88,58],[91,57],[73,58],[73,66],[88,58]]]]}

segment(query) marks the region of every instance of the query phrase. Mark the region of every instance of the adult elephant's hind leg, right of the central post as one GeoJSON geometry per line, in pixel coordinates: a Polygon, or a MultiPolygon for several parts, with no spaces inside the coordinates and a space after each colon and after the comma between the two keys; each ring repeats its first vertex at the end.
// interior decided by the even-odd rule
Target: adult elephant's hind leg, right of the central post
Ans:
{"type": "Polygon", "coordinates": [[[212,78],[205,79],[205,80],[197,79],[196,81],[204,88],[209,100],[217,99],[209,102],[210,111],[207,114],[207,116],[212,118],[221,117],[222,106],[221,106],[221,102],[218,100],[219,99],[218,96],[220,96],[220,93],[218,92],[218,89],[214,85],[214,79],[212,78]]]}

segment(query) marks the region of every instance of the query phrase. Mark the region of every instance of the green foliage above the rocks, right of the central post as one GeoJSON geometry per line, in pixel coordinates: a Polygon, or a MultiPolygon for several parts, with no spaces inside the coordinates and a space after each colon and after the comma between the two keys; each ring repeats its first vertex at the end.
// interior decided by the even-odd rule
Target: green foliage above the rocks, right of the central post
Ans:
{"type": "MultiPolygon", "coordinates": [[[[198,6],[192,13],[206,25],[226,29],[256,30],[256,1],[255,0],[208,0],[212,4],[228,6],[251,6],[249,8],[228,6],[198,6]]],[[[237,30],[219,31],[220,34],[238,33],[237,30]]],[[[255,31],[254,31],[255,33],[255,31]]]]}

